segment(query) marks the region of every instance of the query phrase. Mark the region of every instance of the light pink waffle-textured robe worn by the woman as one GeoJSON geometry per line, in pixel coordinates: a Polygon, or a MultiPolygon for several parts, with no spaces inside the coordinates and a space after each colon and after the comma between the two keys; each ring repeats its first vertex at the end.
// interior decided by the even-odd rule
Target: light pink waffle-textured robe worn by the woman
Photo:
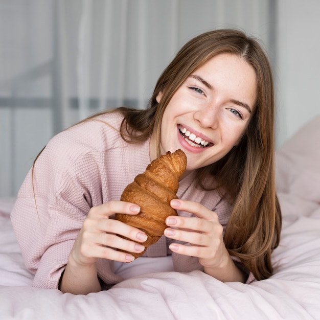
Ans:
{"type": "MultiPolygon", "coordinates": [[[[58,288],[89,209],[119,200],[125,186],[150,163],[149,141],[128,144],[121,138],[119,113],[108,113],[98,119],[54,136],[36,161],[33,181],[30,170],[19,190],[11,219],[26,266],[35,274],[35,287],[58,288]]],[[[194,173],[180,181],[177,195],[217,212],[225,227],[230,205],[216,191],[196,188],[194,173]]],[[[163,236],[145,255],[171,254],[169,241],[163,236]]],[[[197,258],[172,253],[172,260],[176,271],[202,268],[197,258]]],[[[99,259],[97,270],[105,287],[123,280],[113,272],[112,261],[99,259]]]]}

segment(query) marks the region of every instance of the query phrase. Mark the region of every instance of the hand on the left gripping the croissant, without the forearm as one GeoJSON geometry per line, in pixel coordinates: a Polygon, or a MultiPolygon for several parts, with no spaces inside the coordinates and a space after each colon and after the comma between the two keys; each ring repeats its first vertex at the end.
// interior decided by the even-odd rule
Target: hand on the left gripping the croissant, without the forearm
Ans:
{"type": "Polygon", "coordinates": [[[140,207],[136,204],[112,200],[90,209],[87,218],[76,238],[69,261],[79,266],[96,263],[98,258],[131,262],[134,257],[128,252],[140,253],[144,246],[139,242],[147,239],[138,228],[110,218],[115,213],[138,214],[140,207]],[[131,240],[126,240],[118,235],[131,240]]]}

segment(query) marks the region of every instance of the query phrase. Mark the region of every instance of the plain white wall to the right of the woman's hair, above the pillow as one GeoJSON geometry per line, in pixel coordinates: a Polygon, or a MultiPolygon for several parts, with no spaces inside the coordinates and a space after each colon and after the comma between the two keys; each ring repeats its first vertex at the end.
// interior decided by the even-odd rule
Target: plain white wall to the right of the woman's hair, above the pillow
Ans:
{"type": "Polygon", "coordinates": [[[277,144],[320,114],[320,2],[278,1],[277,144]]]}

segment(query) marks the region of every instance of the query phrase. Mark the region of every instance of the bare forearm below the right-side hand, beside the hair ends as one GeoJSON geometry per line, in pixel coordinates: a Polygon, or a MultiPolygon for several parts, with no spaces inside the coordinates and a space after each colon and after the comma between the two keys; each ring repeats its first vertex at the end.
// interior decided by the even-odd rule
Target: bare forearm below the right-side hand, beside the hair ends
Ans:
{"type": "Polygon", "coordinates": [[[222,282],[242,282],[245,283],[247,275],[240,270],[231,257],[228,255],[225,263],[219,267],[204,267],[203,271],[208,275],[222,282]]]}

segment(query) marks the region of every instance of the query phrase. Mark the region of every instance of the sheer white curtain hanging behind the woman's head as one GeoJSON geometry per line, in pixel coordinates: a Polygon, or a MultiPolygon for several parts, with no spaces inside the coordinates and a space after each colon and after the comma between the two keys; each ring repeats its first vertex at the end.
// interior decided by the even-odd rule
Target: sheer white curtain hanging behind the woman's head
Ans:
{"type": "Polygon", "coordinates": [[[62,111],[64,127],[104,108],[144,108],[163,68],[203,31],[240,27],[266,45],[271,31],[267,0],[59,0],[54,10],[58,92],[77,109],[62,111]]]}

